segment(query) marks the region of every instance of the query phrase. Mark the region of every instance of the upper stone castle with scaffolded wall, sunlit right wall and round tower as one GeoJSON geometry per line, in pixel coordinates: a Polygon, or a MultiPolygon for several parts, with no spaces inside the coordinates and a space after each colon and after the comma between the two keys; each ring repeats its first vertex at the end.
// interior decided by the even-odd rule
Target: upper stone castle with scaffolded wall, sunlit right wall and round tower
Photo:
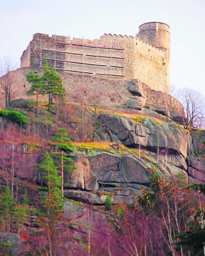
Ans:
{"type": "Polygon", "coordinates": [[[111,80],[138,79],[153,90],[169,93],[168,28],[161,22],[149,22],[139,27],[137,38],[104,34],[94,40],[36,33],[21,56],[21,67],[43,67],[47,59],[56,71],[111,80]]]}

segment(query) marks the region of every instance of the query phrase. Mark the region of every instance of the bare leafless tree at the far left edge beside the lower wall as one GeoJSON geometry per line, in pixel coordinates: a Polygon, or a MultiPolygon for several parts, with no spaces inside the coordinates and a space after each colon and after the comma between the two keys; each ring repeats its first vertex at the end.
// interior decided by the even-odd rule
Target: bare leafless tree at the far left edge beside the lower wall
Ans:
{"type": "Polygon", "coordinates": [[[0,85],[5,94],[5,106],[9,106],[19,92],[19,87],[16,84],[15,74],[12,72],[16,66],[12,63],[9,57],[4,57],[0,62],[0,85]]]}

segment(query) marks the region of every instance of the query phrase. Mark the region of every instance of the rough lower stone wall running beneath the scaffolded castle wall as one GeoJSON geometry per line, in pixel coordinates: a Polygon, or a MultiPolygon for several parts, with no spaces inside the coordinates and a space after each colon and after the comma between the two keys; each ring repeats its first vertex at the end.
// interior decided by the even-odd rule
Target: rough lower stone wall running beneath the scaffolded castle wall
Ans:
{"type": "MultiPolygon", "coordinates": [[[[15,71],[11,71],[16,78],[16,86],[18,87],[18,98],[33,98],[36,96],[26,95],[26,92],[30,88],[30,84],[26,81],[26,74],[29,71],[35,71],[39,75],[43,75],[42,68],[18,68],[15,71]]],[[[107,96],[106,105],[108,107],[123,107],[127,99],[132,96],[132,94],[127,90],[127,80],[110,80],[105,78],[97,78],[86,75],[73,75],[67,71],[58,71],[62,78],[63,86],[66,88],[67,94],[72,97],[73,93],[78,90],[87,90],[87,92],[98,92],[103,91],[104,95],[107,96]]],[[[133,79],[134,82],[137,79],[133,79]]],[[[170,101],[170,96],[167,93],[152,90],[148,85],[143,84],[143,88],[146,92],[146,103],[151,106],[165,107],[166,102],[170,101]]],[[[0,88],[0,93],[3,95],[3,91],[0,88]]],[[[39,99],[46,99],[46,96],[39,96],[39,99]]],[[[5,105],[4,97],[0,98],[0,106],[5,105]]],[[[174,106],[175,110],[182,112],[182,105],[180,102],[176,102],[174,106]]]]}

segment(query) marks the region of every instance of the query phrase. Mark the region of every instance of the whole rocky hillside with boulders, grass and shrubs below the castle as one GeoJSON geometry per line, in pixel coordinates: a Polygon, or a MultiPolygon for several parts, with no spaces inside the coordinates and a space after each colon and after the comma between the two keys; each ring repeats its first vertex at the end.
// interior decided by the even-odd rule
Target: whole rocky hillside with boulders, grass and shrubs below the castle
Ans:
{"type": "MultiPolygon", "coordinates": [[[[205,183],[205,147],[201,144],[205,141],[205,131],[185,130],[182,125],[166,117],[166,111],[161,107],[146,106],[144,102],[143,107],[139,107],[143,93],[130,97],[128,103],[138,101],[135,102],[138,106],[136,109],[103,108],[95,116],[93,106],[81,108],[79,102],[72,102],[61,106],[57,121],[53,107],[47,111],[45,102],[40,104],[39,117],[34,102],[12,102],[10,110],[27,116],[29,123],[24,131],[17,131],[16,128],[12,130],[18,134],[15,135],[9,130],[12,128],[11,120],[1,119],[1,146],[11,145],[14,135],[14,144],[8,146],[7,154],[14,147],[15,152],[20,154],[16,158],[16,164],[20,161],[16,168],[21,168],[13,176],[13,193],[17,201],[23,202],[23,191],[27,188],[28,207],[32,214],[27,215],[27,220],[21,221],[18,228],[13,228],[16,222],[7,228],[6,222],[1,221],[0,238],[3,242],[0,250],[6,250],[4,252],[7,253],[2,255],[37,255],[37,250],[38,253],[42,250],[42,255],[46,255],[49,241],[49,238],[45,238],[46,225],[42,224],[39,210],[34,210],[34,207],[42,210],[40,203],[47,191],[46,180],[42,178],[42,172],[38,171],[45,151],[57,162],[59,150],[51,138],[58,128],[66,128],[69,133],[74,152],[66,156],[74,160],[76,167],[72,172],[64,173],[63,217],[55,222],[55,228],[61,231],[56,241],[61,241],[59,246],[61,244],[66,247],[65,251],[69,251],[65,255],[96,255],[97,249],[94,248],[100,241],[97,240],[98,235],[104,236],[103,232],[110,230],[111,224],[118,228],[118,218],[124,212],[122,203],[133,205],[135,194],[143,196],[141,188],[143,186],[149,190],[150,177],[154,174],[158,173],[160,178],[168,180],[180,173],[189,184],[205,183]],[[95,142],[90,142],[93,131],[95,142]],[[114,205],[111,212],[104,209],[108,193],[114,205]],[[87,249],[90,246],[90,234],[93,249],[87,249]],[[32,254],[29,254],[31,251],[32,254]]],[[[177,119],[177,112],[175,117],[177,119]]],[[[1,154],[1,163],[2,159],[1,154]]],[[[12,183],[12,176],[5,175],[3,165],[0,171],[1,187],[4,190],[6,181],[12,183]]],[[[60,254],[56,252],[56,255],[60,254]]],[[[98,255],[103,255],[100,250],[98,255]]]]}

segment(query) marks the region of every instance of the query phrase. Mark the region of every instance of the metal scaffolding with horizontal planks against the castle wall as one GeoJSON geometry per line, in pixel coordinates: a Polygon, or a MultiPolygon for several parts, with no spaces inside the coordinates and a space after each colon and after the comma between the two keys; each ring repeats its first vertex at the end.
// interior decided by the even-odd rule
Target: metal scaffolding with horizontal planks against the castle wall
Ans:
{"type": "Polygon", "coordinates": [[[45,59],[54,70],[125,79],[125,49],[113,47],[112,41],[110,46],[89,45],[84,38],[81,43],[71,42],[70,37],[67,42],[60,42],[54,35],[53,49],[43,46],[40,40],[40,67],[45,59]]]}

